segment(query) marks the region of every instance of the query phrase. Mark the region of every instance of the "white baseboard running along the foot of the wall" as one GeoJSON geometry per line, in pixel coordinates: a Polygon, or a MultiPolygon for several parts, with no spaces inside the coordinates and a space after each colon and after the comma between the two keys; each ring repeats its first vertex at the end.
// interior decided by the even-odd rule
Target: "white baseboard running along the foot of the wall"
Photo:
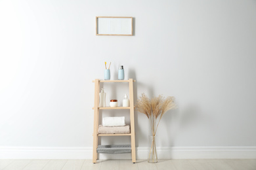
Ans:
{"type": "MultiPolygon", "coordinates": [[[[256,146],[158,147],[159,159],[256,159],[256,146]]],[[[137,147],[137,159],[147,159],[148,148],[137,147]]],[[[0,146],[0,159],[92,159],[92,147],[0,146]]],[[[100,159],[131,159],[131,154],[99,154],[100,159]]]]}

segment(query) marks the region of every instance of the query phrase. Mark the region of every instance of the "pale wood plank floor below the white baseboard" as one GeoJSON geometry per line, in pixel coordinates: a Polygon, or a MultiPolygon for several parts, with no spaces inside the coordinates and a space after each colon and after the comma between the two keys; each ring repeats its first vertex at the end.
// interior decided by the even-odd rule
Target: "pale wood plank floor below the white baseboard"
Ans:
{"type": "Polygon", "coordinates": [[[256,160],[159,160],[158,163],[148,163],[147,160],[137,160],[132,163],[131,160],[98,160],[98,163],[92,163],[92,160],[0,160],[0,169],[5,170],[82,170],[82,169],[115,169],[115,170],[208,170],[208,169],[239,169],[256,170],[256,160]]]}

